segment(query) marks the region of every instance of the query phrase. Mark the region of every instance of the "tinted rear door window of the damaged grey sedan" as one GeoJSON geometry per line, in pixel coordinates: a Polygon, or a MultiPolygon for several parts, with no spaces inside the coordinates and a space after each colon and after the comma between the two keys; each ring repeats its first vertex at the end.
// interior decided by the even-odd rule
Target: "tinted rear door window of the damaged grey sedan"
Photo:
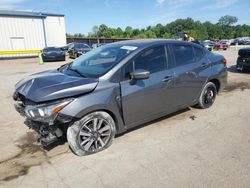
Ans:
{"type": "Polygon", "coordinates": [[[195,55],[192,46],[173,45],[173,52],[176,66],[187,65],[195,62],[195,55]]]}

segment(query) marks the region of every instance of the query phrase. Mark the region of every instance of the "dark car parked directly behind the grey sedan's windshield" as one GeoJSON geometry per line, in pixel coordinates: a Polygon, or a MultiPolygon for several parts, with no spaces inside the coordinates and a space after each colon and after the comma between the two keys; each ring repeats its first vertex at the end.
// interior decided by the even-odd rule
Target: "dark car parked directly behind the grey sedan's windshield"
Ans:
{"type": "Polygon", "coordinates": [[[68,53],[70,58],[77,58],[87,52],[89,52],[91,48],[89,45],[85,43],[72,43],[69,46],[68,53]]]}

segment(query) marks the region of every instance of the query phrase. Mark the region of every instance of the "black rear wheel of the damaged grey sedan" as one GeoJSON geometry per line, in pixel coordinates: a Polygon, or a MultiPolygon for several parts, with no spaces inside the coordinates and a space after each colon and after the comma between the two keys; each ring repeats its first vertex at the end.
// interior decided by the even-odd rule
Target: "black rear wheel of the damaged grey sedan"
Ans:
{"type": "Polygon", "coordinates": [[[217,89],[214,83],[208,82],[202,89],[199,97],[199,107],[202,109],[209,108],[213,105],[217,95],[217,89]]]}

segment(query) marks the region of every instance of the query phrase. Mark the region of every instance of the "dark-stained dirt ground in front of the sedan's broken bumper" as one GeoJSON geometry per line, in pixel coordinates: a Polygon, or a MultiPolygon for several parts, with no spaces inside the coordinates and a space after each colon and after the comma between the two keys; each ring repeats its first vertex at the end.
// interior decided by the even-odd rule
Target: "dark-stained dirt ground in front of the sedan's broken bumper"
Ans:
{"type": "Polygon", "coordinates": [[[23,176],[27,174],[33,166],[38,166],[42,163],[50,164],[51,157],[47,155],[47,151],[37,142],[35,132],[28,132],[19,138],[16,141],[16,146],[20,149],[20,152],[0,162],[0,181],[10,181],[19,176],[23,176]]]}

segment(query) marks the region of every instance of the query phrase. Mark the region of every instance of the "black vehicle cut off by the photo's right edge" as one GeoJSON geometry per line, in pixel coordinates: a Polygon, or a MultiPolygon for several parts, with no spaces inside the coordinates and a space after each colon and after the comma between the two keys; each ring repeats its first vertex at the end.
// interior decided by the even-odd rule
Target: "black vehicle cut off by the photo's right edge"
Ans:
{"type": "Polygon", "coordinates": [[[250,48],[240,49],[238,52],[236,68],[239,71],[250,70],[250,48]]]}

